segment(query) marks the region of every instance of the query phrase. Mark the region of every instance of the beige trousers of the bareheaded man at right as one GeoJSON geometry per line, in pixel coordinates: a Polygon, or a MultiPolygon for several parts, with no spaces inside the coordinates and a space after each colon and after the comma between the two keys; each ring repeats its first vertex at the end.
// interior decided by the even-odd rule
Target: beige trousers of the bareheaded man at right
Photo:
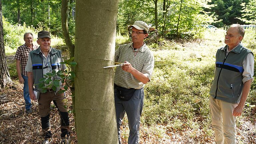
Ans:
{"type": "Polygon", "coordinates": [[[236,144],[236,117],[233,111],[238,104],[209,98],[212,126],[216,144],[236,144]]]}

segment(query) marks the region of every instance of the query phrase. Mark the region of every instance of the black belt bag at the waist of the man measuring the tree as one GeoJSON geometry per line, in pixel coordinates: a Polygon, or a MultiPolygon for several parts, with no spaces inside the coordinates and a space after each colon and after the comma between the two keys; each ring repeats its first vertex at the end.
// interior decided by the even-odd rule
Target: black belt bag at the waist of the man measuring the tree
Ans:
{"type": "Polygon", "coordinates": [[[130,88],[130,89],[123,88],[116,84],[114,84],[114,88],[117,89],[117,97],[122,101],[130,100],[132,98],[134,92],[137,90],[134,88],[130,88]]]}

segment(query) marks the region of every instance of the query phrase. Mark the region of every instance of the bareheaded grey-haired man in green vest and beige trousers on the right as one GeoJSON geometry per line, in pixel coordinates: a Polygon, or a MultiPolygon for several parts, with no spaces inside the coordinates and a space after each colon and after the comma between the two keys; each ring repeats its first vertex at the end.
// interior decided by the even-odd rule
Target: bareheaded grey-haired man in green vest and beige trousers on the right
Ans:
{"type": "Polygon", "coordinates": [[[225,35],[226,46],[216,53],[210,110],[216,144],[236,143],[236,117],[241,116],[253,81],[253,53],[242,46],[244,28],[233,24],[225,35]]]}

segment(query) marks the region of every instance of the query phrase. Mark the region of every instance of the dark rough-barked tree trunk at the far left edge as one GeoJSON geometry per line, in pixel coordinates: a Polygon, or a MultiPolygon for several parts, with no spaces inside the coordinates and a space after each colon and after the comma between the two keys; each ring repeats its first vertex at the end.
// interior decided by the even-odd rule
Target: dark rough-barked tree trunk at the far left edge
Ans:
{"type": "Polygon", "coordinates": [[[2,1],[0,0],[0,90],[11,82],[4,50],[2,1]]]}

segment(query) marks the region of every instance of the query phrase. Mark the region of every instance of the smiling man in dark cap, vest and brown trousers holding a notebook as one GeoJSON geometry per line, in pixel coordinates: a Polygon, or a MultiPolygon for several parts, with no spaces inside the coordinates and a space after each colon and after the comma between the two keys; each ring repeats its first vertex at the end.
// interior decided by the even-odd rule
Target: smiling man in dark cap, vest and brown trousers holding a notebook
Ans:
{"type": "MultiPolygon", "coordinates": [[[[59,86],[50,87],[50,83],[45,83],[45,87],[49,87],[46,92],[43,92],[39,87],[41,83],[40,79],[44,78],[46,73],[53,71],[58,72],[60,69],[65,70],[66,65],[60,64],[63,62],[61,51],[53,49],[51,45],[51,36],[48,31],[38,32],[37,43],[40,45],[38,49],[29,53],[28,62],[25,70],[28,72],[28,87],[29,95],[32,100],[36,100],[36,96],[33,92],[33,85],[35,89],[40,92],[38,98],[39,115],[41,116],[42,123],[42,136],[44,138],[43,144],[49,144],[52,142],[51,137],[51,125],[50,125],[50,105],[51,101],[59,110],[60,114],[60,129],[61,129],[61,143],[68,143],[69,136],[69,116],[68,108],[65,103],[66,97],[64,93],[58,93],[60,89],[63,89],[64,84],[59,81],[59,86]]],[[[54,76],[52,80],[60,80],[61,77],[54,76]]]]}

